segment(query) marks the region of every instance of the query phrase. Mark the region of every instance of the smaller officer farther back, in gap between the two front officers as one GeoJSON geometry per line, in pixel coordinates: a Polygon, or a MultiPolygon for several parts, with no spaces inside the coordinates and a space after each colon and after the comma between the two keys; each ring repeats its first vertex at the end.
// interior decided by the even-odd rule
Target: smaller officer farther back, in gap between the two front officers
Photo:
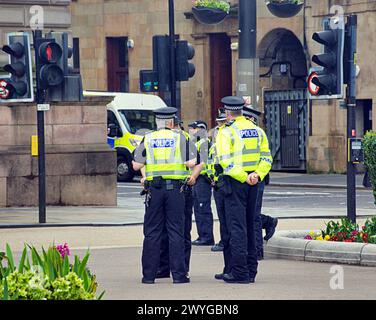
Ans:
{"type": "MultiPolygon", "coordinates": [[[[200,161],[206,164],[210,147],[207,124],[205,121],[197,120],[190,124],[189,127],[190,134],[196,139],[196,147],[200,161]]],[[[214,244],[211,196],[211,182],[206,173],[206,165],[204,165],[193,187],[193,206],[198,233],[198,238],[192,241],[193,245],[212,246],[214,244]]]]}

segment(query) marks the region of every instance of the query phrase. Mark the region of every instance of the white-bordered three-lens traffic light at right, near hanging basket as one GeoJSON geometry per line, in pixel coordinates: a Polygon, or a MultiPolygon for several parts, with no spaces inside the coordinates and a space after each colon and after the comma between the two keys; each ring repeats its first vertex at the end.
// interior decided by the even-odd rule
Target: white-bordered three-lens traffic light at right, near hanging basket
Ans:
{"type": "Polygon", "coordinates": [[[343,53],[345,27],[341,19],[324,19],[324,30],[315,32],[312,39],[323,45],[321,54],[312,57],[320,66],[312,83],[318,87],[313,99],[336,99],[343,97],[343,53]]]}

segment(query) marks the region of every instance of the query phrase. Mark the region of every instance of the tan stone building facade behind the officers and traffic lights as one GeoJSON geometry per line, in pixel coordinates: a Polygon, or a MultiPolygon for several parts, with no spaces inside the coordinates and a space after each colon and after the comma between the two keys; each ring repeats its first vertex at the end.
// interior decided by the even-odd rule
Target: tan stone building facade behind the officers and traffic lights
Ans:
{"type": "MultiPolygon", "coordinates": [[[[175,0],[175,32],[195,47],[196,74],[181,83],[182,118],[188,123],[204,119],[213,124],[220,96],[235,94],[238,58],[237,0],[230,1],[230,15],[220,24],[203,25],[192,16],[192,1],[175,0]]],[[[375,129],[376,103],[374,79],[376,2],[372,0],[306,0],[295,17],[273,16],[264,0],[257,1],[257,52],[260,59],[260,99],[268,90],[304,89],[312,66],[311,57],[321,50],[311,39],[322,30],[322,18],[332,14],[333,5],[347,15],[358,15],[357,130],[375,129]],[[284,61],[290,74],[271,68],[284,61]],[[293,76],[291,75],[293,74],[293,76]]],[[[139,70],[152,68],[152,36],[168,34],[166,0],[77,0],[72,4],[72,32],[79,38],[80,67],[84,87],[111,90],[109,61],[111,39],[125,41],[126,82],[130,92],[139,92],[139,70]],[[131,42],[129,42],[131,40],[131,42]],[[131,44],[131,45],[129,45],[131,44]],[[134,45],[133,45],[134,44],[134,45]]],[[[111,50],[110,50],[111,51],[111,50]]],[[[281,69],[282,70],[282,69],[281,69]]],[[[336,100],[306,101],[304,152],[310,172],[345,172],[346,110],[336,100]]],[[[287,151],[286,151],[287,152],[287,151]]]]}

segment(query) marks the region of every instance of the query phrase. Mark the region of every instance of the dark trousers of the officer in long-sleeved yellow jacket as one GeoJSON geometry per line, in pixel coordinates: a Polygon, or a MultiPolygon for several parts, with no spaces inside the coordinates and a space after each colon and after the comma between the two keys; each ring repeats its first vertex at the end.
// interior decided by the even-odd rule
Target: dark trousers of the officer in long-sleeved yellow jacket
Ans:
{"type": "Polygon", "coordinates": [[[255,214],[258,185],[227,176],[231,190],[226,193],[226,221],[230,232],[231,273],[236,279],[255,278],[257,252],[255,239],[255,214]]]}

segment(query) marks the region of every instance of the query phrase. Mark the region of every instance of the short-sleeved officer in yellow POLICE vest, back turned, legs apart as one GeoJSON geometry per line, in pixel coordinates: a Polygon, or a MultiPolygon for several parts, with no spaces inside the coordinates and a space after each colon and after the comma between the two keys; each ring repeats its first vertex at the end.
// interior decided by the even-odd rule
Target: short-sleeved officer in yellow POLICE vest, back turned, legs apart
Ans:
{"type": "Polygon", "coordinates": [[[158,129],[145,135],[133,162],[136,171],[145,166],[148,189],[142,251],[142,283],[147,284],[154,283],[157,275],[164,227],[173,283],[189,282],[184,259],[185,197],[181,187],[188,175],[186,167],[196,164],[196,150],[183,134],[172,130],[176,111],[169,107],[154,111],[158,129]]]}

